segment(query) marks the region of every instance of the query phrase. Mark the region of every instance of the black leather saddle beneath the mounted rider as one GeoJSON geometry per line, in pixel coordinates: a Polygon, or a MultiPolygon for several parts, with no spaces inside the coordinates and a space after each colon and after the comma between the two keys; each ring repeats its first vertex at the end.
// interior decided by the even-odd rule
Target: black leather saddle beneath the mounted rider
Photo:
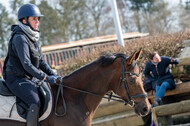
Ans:
{"type": "MultiPolygon", "coordinates": [[[[49,91],[44,87],[43,82],[38,85],[38,93],[41,101],[41,107],[40,107],[40,112],[39,112],[39,117],[43,115],[43,113],[47,110],[48,108],[48,102],[50,101],[50,93],[49,91]]],[[[0,79],[0,95],[3,96],[15,96],[7,87],[5,84],[5,81],[3,79],[0,79]]],[[[16,108],[18,114],[26,119],[27,111],[28,111],[28,106],[18,97],[16,97],[16,108]]]]}

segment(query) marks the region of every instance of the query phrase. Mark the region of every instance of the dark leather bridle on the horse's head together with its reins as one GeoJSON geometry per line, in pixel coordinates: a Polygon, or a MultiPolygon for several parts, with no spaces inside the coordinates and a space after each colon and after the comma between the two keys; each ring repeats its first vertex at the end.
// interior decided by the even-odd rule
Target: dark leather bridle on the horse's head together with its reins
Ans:
{"type": "MultiPolygon", "coordinates": [[[[125,105],[128,104],[131,107],[134,107],[135,104],[137,103],[134,100],[132,100],[132,98],[146,98],[147,97],[146,92],[141,93],[141,94],[136,94],[136,95],[130,95],[128,83],[127,83],[127,80],[126,80],[126,74],[129,74],[129,76],[135,75],[135,76],[139,77],[139,76],[141,76],[141,71],[140,71],[140,68],[139,68],[139,73],[138,74],[135,73],[135,72],[131,72],[131,71],[125,71],[125,61],[126,61],[126,58],[123,57],[122,61],[121,61],[121,77],[120,77],[120,81],[119,81],[119,85],[117,87],[116,93],[118,92],[118,90],[121,87],[121,84],[123,82],[124,88],[125,88],[125,93],[126,93],[126,96],[127,96],[127,100],[123,100],[121,97],[119,97],[117,95],[113,95],[113,92],[110,92],[110,93],[106,94],[107,95],[107,97],[106,97],[106,96],[102,96],[102,95],[99,95],[99,94],[96,94],[96,93],[93,93],[93,92],[90,92],[90,91],[85,91],[85,90],[82,90],[82,89],[73,88],[73,87],[70,87],[70,86],[67,86],[67,85],[63,85],[62,78],[61,78],[59,80],[59,84],[56,84],[56,85],[59,86],[59,88],[58,88],[58,91],[57,91],[56,102],[55,102],[55,115],[56,116],[64,116],[66,114],[66,103],[65,103],[65,99],[63,97],[63,87],[71,89],[71,90],[75,90],[75,91],[78,91],[78,92],[81,92],[81,93],[85,93],[85,94],[97,96],[97,97],[100,97],[100,98],[108,99],[108,101],[113,100],[113,101],[124,103],[125,105]],[[62,102],[63,102],[64,113],[62,113],[62,114],[57,113],[57,103],[58,103],[59,95],[61,95],[62,102]]],[[[138,65],[136,63],[135,67],[137,67],[137,66],[138,65]]]]}

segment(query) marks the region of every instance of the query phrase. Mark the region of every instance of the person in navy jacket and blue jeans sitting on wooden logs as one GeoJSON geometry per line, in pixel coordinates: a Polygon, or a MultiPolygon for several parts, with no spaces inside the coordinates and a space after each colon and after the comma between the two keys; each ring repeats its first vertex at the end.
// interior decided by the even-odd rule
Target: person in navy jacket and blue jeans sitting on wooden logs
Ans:
{"type": "Polygon", "coordinates": [[[162,104],[162,98],[166,90],[176,87],[174,78],[169,70],[170,64],[178,64],[178,58],[159,56],[157,52],[149,54],[150,61],[147,62],[144,74],[146,78],[152,81],[152,87],[155,89],[155,101],[153,106],[162,104]]]}

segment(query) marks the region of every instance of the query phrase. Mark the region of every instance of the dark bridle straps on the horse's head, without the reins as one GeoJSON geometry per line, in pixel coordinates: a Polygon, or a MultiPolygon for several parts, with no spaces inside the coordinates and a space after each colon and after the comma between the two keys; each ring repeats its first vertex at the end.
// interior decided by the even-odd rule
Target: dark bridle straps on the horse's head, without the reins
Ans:
{"type": "MultiPolygon", "coordinates": [[[[130,91],[129,91],[129,87],[128,87],[128,83],[126,81],[126,74],[129,74],[129,76],[135,75],[137,77],[141,76],[141,71],[139,68],[139,73],[135,73],[135,72],[131,72],[131,71],[125,71],[125,58],[122,58],[121,61],[121,77],[120,77],[120,81],[119,81],[119,85],[118,88],[116,90],[116,93],[118,92],[119,88],[121,87],[121,83],[123,82],[124,88],[125,88],[125,93],[127,96],[127,100],[125,101],[125,105],[129,104],[131,107],[134,107],[135,105],[135,101],[132,100],[132,98],[146,98],[147,97],[147,93],[141,93],[141,94],[136,94],[136,95],[130,95],[130,91]]],[[[137,67],[137,63],[135,64],[135,67],[137,67]]]]}

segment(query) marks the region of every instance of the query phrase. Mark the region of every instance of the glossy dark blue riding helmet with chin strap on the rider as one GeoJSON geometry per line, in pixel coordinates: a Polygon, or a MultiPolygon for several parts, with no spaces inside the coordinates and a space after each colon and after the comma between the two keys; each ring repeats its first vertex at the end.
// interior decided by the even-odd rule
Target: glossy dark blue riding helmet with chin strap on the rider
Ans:
{"type": "Polygon", "coordinates": [[[40,9],[34,4],[24,4],[18,10],[18,20],[22,21],[22,19],[25,19],[27,22],[26,25],[29,26],[30,24],[28,22],[28,17],[42,17],[42,16],[44,15],[41,14],[40,9]]]}

